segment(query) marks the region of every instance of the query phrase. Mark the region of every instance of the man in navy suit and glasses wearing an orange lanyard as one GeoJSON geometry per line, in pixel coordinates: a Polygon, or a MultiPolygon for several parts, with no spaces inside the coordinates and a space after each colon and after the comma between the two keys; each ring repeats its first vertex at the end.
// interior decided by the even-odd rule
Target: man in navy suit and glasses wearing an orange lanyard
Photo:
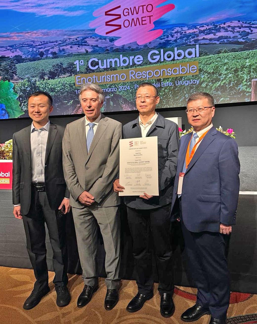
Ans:
{"type": "Polygon", "coordinates": [[[236,141],[213,127],[214,112],[208,93],[187,100],[194,131],[181,137],[172,207],[179,202],[188,273],[198,288],[196,304],[181,319],[211,314],[210,324],[224,324],[230,297],[225,235],[235,224],[240,164],[236,141]]]}

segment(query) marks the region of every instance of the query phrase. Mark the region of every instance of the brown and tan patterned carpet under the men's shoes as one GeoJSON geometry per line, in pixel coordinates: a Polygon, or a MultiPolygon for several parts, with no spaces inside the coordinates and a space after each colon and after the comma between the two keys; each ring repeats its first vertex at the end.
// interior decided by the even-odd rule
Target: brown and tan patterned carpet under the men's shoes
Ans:
{"type": "MultiPolygon", "coordinates": [[[[137,293],[135,281],[122,280],[120,300],[111,311],[104,309],[106,286],[104,279],[99,279],[99,289],[91,302],[83,308],[77,307],[77,298],[83,289],[81,276],[69,275],[68,288],[71,292],[71,303],[66,307],[56,305],[54,291],[54,272],[49,272],[50,292],[31,310],[24,310],[22,305],[30,295],[33,284],[33,271],[0,267],[0,323],[1,324],[165,324],[180,323],[180,315],[195,304],[196,289],[176,287],[173,296],[175,313],[171,318],[160,315],[160,295],[157,284],[154,285],[154,297],[136,313],[128,313],[126,306],[137,293]]],[[[257,295],[231,293],[228,309],[229,324],[257,323],[257,295]]],[[[208,324],[209,315],[197,321],[197,324],[208,324]]]]}

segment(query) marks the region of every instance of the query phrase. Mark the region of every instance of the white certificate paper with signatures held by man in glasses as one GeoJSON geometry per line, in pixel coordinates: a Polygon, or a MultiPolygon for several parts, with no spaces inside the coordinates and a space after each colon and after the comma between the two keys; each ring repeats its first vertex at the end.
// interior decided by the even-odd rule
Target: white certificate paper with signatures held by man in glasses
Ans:
{"type": "Polygon", "coordinates": [[[157,136],[120,140],[119,196],[159,196],[157,136]]]}

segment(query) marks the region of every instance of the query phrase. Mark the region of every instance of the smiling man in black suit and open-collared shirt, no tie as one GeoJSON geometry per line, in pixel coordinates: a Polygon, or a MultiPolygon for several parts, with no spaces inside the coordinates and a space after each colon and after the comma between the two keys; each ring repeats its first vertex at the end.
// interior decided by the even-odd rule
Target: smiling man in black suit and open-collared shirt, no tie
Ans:
{"type": "Polygon", "coordinates": [[[66,215],[70,211],[70,193],[62,169],[64,128],[50,123],[52,97],[37,91],[28,98],[32,124],[13,134],[13,214],[23,219],[27,250],[36,282],[23,308],[35,307],[49,292],[46,264],[45,223],[53,248],[54,284],[57,305],[71,300],[66,287],[67,247],[66,215]]]}

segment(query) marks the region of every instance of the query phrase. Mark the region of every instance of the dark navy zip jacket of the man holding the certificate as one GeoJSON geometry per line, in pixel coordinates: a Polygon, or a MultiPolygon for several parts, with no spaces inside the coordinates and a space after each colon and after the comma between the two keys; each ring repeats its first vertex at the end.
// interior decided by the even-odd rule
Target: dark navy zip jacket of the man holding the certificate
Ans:
{"type": "MultiPolygon", "coordinates": [[[[158,208],[172,201],[173,183],[177,169],[179,150],[178,126],[158,113],[158,117],[150,127],[148,136],[158,136],[158,178],[159,196],[145,200],[136,196],[125,196],[124,203],[136,209],[158,208]]],[[[142,137],[139,116],[123,126],[123,138],[142,137]]],[[[121,183],[122,185],[122,183],[121,183]]]]}

